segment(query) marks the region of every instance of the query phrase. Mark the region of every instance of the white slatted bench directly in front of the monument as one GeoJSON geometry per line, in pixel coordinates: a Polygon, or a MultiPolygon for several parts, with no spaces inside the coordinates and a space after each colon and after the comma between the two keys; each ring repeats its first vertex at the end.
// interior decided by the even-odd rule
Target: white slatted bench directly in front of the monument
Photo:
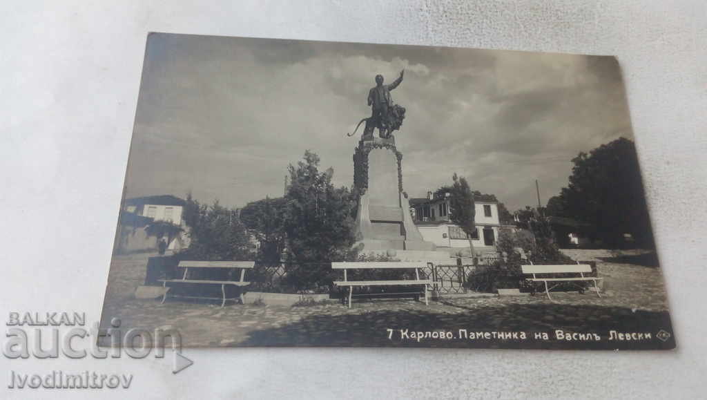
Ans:
{"type": "MultiPolygon", "coordinates": [[[[351,308],[351,297],[354,296],[354,286],[416,286],[421,285],[423,290],[421,292],[395,292],[395,295],[425,295],[425,304],[428,303],[428,285],[432,285],[432,280],[430,279],[420,279],[420,268],[426,268],[427,263],[423,262],[357,262],[357,263],[332,263],[332,269],[334,270],[344,270],[344,280],[334,281],[334,285],[339,287],[349,287],[349,308],[351,308]],[[364,269],[414,269],[415,279],[406,280],[349,280],[346,271],[347,270],[364,270],[364,269]]],[[[388,295],[388,293],[381,293],[380,295],[388,295]]],[[[356,295],[356,296],[372,296],[374,294],[366,295],[356,295]]]]}

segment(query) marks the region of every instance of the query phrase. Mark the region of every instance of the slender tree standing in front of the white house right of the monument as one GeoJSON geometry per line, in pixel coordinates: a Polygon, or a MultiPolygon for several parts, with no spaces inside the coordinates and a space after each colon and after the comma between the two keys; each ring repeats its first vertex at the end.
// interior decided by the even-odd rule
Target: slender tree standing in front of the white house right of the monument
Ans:
{"type": "Polygon", "coordinates": [[[450,220],[457,224],[469,239],[469,250],[472,257],[476,255],[474,251],[474,241],[472,235],[477,233],[475,222],[477,210],[474,205],[474,193],[469,188],[467,179],[463,176],[457,176],[455,173],[452,176],[452,185],[443,186],[438,190],[438,193],[449,193],[449,210],[450,220]]]}

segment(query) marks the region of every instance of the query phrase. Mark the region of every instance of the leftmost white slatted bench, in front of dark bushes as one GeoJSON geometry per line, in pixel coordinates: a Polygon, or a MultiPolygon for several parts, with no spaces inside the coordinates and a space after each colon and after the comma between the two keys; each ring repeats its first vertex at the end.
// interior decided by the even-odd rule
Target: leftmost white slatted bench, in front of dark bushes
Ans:
{"type": "Polygon", "coordinates": [[[167,294],[171,285],[221,285],[221,297],[204,297],[204,296],[185,296],[172,295],[173,297],[185,297],[191,299],[221,299],[221,307],[226,304],[226,300],[240,299],[243,304],[243,290],[239,290],[238,297],[226,297],[226,287],[235,286],[243,287],[250,285],[250,282],[245,282],[245,270],[253,268],[255,261],[180,261],[177,268],[184,268],[182,279],[160,279],[163,282],[165,294],[162,296],[162,302],[167,299],[167,294]],[[203,268],[223,268],[235,269],[240,268],[240,280],[206,280],[206,279],[189,279],[189,270],[204,270],[203,268]],[[170,286],[168,286],[168,284],[170,286]]]}

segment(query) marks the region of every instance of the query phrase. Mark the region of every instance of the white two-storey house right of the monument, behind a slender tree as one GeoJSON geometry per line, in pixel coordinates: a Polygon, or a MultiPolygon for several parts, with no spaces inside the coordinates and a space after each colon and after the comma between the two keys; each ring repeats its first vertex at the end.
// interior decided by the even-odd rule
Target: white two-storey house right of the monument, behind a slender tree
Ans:
{"type": "MultiPolygon", "coordinates": [[[[474,195],[476,234],[472,234],[474,249],[495,251],[498,229],[498,200],[495,195],[474,195]]],[[[450,221],[449,198],[428,192],[427,198],[410,199],[411,214],[423,239],[438,247],[469,248],[467,234],[450,221]]]]}

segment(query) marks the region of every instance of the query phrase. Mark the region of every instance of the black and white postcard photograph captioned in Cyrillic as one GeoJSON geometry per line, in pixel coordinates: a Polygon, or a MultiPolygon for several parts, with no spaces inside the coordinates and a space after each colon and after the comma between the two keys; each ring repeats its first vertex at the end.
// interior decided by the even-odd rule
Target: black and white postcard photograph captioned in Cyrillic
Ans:
{"type": "Polygon", "coordinates": [[[610,56],[151,33],[101,327],[675,348],[637,140],[610,56]]]}

